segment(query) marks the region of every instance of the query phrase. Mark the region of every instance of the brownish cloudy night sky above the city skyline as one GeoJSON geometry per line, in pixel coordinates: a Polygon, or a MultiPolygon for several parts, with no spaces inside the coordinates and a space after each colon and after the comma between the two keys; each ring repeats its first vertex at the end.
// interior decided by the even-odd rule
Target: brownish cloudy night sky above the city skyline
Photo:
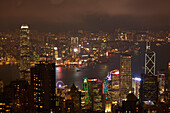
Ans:
{"type": "Polygon", "coordinates": [[[0,31],[168,29],[170,0],[0,0],[0,31]]]}

